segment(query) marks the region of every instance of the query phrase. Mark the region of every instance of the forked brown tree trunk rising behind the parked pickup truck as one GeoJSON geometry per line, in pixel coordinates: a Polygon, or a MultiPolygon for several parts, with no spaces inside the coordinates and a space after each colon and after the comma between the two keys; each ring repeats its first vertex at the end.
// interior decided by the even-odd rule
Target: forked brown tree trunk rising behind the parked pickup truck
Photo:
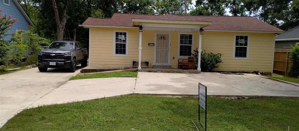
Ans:
{"type": "Polygon", "coordinates": [[[64,13],[62,17],[59,17],[56,1],[52,0],[52,5],[53,5],[53,10],[55,14],[55,21],[56,21],[56,26],[57,26],[57,40],[63,40],[63,33],[64,33],[64,28],[65,28],[65,23],[66,23],[66,10],[67,10],[67,5],[65,5],[64,8],[64,13]]]}

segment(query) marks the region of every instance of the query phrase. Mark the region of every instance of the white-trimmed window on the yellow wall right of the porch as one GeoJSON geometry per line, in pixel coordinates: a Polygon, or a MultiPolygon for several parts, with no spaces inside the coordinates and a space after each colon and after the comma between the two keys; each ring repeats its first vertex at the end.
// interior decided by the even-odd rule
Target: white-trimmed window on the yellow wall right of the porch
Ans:
{"type": "Polygon", "coordinates": [[[248,58],[249,35],[235,35],[234,58],[248,58]]]}

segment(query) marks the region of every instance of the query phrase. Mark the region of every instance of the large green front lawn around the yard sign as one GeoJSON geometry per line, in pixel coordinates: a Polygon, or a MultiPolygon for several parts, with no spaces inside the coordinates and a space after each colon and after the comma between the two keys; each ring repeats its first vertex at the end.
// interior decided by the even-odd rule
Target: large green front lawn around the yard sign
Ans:
{"type": "MultiPolygon", "coordinates": [[[[208,131],[287,131],[288,126],[298,131],[298,103],[299,99],[208,97],[208,131]]],[[[198,98],[127,95],[26,109],[2,131],[187,131],[192,121],[199,127],[198,98]]]]}

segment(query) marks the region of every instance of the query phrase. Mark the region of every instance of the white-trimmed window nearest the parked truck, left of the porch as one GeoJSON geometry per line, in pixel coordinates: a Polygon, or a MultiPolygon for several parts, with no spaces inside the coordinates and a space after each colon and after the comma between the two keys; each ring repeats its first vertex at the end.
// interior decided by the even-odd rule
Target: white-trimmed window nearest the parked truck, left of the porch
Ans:
{"type": "Polygon", "coordinates": [[[128,32],[127,31],[115,31],[114,32],[114,55],[115,56],[127,56],[128,50],[128,32]]]}

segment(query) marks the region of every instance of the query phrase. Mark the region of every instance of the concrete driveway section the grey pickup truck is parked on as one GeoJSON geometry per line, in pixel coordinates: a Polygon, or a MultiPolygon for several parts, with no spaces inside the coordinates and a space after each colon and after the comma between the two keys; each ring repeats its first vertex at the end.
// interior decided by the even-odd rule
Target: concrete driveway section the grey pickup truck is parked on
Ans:
{"type": "Polygon", "coordinates": [[[26,109],[79,72],[80,69],[69,73],[65,69],[53,68],[39,72],[38,68],[31,68],[0,75],[0,127],[17,112],[26,109]]]}

